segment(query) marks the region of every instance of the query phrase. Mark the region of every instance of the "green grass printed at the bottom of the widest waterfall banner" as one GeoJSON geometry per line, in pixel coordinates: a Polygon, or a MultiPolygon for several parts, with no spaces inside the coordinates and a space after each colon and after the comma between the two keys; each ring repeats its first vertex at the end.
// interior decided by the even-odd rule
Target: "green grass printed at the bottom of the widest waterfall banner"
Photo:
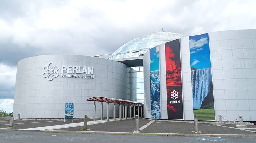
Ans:
{"type": "Polygon", "coordinates": [[[214,109],[194,109],[194,115],[198,120],[215,120],[214,109]]]}

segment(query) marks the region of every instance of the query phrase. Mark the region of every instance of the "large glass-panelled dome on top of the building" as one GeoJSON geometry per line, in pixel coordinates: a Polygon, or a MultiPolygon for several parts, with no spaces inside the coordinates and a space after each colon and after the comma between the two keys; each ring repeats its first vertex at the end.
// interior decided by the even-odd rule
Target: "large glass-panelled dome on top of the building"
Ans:
{"type": "Polygon", "coordinates": [[[150,48],[187,35],[173,32],[155,32],[130,40],[118,48],[109,59],[122,59],[143,56],[150,48]]]}

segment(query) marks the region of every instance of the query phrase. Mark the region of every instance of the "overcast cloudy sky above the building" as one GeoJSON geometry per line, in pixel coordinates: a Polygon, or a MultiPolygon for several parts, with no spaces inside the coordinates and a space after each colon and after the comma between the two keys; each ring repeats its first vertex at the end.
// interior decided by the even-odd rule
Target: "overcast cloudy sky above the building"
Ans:
{"type": "Polygon", "coordinates": [[[185,35],[256,29],[255,7],[255,0],[0,0],[0,110],[12,112],[20,59],[113,53],[161,28],[185,35]]]}

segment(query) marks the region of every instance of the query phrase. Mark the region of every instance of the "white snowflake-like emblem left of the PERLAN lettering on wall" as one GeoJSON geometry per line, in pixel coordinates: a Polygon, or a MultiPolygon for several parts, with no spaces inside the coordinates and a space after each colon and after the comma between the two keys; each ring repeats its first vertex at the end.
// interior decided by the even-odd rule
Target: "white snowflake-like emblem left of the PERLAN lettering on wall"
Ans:
{"type": "Polygon", "coordinates": [[[47,77],[48,81],[53,80],[53,77],[59,76],[59,73],[58,73],[59,67],[54,66],[53,63],[49,63],[49,66],[43,67],[43,70],[45,71],[43,73],[43,77],[45,77],[45,78],[47,77]]]}

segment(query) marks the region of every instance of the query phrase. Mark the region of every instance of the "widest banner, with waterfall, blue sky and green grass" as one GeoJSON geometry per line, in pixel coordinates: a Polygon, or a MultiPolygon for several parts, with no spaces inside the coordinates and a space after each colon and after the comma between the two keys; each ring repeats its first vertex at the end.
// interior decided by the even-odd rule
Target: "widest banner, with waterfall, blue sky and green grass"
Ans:
{"type": "Polygon", "coordinates": [[[198,120],[215,120],[209,35],[189,36],[192,98],[198,120]]]}

